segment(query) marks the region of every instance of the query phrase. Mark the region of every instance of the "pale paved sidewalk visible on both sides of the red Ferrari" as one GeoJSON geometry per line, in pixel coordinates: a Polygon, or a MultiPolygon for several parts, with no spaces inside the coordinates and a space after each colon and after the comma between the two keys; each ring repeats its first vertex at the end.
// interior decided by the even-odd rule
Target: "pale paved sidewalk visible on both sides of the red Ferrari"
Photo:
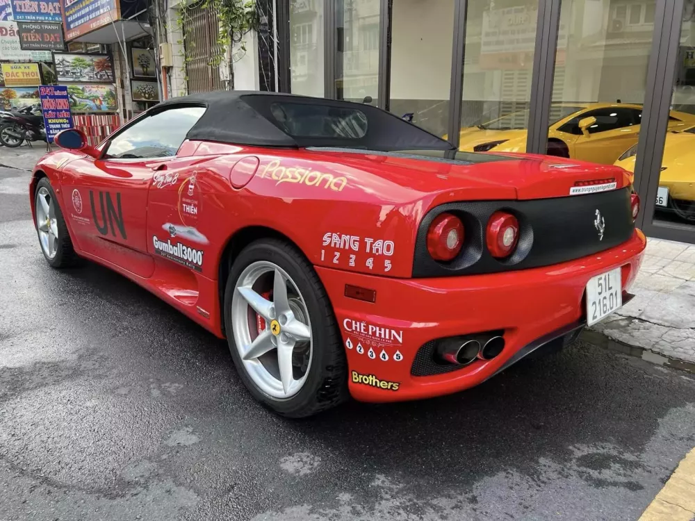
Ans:
{"type": "MultiPolygon", "coordinates": [[[[33,148],[26,144],[16,149],[0,147],[0,167],[31,170],[45,153],[40,142],[33,148]]],[[[695,245],[648,239],[631,292],[635,299],[584,331],[584,338],[695,372],[695,245]]]]}

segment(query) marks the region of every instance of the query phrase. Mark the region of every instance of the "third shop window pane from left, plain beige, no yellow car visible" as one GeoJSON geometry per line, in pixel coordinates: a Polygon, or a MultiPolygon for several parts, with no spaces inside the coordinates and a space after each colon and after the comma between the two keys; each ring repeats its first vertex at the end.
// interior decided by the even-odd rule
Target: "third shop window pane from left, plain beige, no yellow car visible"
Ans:
{"type": "Polygon", "coordinates": [[[389,109],[436,135],[448,126],[454,0],[398,0],[391,11],[389,109]]]}

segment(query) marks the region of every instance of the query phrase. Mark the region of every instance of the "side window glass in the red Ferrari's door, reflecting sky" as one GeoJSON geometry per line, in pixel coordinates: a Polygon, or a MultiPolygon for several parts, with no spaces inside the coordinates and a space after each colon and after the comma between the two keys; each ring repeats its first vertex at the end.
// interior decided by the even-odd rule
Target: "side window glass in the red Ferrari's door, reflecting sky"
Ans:
{"type": "Polygon", "coordinates": [[[138,119],[111,140],[106,157],[140,159],[175,156],[186,134],[204,112],[202,107],[170,108],[138,119]]]}

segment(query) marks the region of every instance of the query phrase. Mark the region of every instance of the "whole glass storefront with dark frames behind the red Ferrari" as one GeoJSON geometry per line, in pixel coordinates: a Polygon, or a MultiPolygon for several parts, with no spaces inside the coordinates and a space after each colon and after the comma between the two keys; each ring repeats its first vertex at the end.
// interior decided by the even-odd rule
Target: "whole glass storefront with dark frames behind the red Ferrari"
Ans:
{"type": "Polygon", "coordinates": [[[386,108],[462,150],[619,165],[637,224],[695,242],[695,0],[675,15],[673,0],[286,1],[290,92],[386,108]]]}

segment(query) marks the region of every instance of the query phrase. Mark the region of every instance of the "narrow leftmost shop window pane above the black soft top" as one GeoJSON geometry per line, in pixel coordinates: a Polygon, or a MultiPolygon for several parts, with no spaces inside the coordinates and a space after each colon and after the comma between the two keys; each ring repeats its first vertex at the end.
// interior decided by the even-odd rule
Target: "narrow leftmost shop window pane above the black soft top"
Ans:
{"type": "Polygon", "coordinates": [[[323,2],[290,0],[290,90],[324,95],[323,2]]]}

